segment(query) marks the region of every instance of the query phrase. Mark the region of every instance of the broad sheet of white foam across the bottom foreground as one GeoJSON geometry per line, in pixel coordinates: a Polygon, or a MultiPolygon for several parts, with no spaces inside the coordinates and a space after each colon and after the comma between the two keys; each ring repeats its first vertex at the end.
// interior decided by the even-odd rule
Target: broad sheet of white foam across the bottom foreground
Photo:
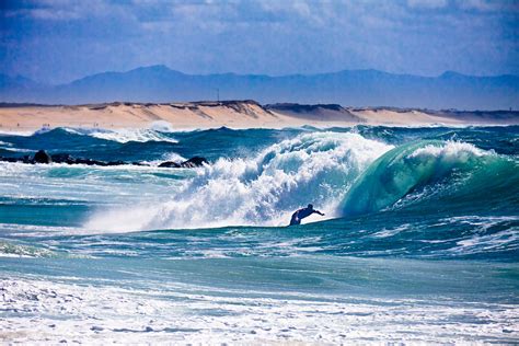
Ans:
{"type": "MultiPolygon", "coordinates": [[[[100,280],[102,281],[102,280],[100,280]]],[[[516,304],[347,298],[154,285],[124,289],[73,278],[0,280],[0,339],[85,344],[511,343],[516,304]]]]}

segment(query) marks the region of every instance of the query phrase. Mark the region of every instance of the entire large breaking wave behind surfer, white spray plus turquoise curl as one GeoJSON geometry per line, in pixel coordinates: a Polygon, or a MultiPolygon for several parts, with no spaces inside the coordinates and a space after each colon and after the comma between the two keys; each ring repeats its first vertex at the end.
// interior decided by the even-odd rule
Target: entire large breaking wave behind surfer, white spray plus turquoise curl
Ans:
{"type": "MultiPolygon", "coordinates": [[[[471,204],[485,183],[486,192],[494,188],[491,196],[501,198],[496,191],[499,186],[488,184],[503,184],[496,176],[504,174],[512,178],[511,184],[519,182],[517,163],[469,143],[419,141],[394,148],[351,132],[301,134],[253,159],[219,159],[198,170],[169,200],[102,211],[86,228],[139,231],[284,226],[293,210],[308,203],[324,210],[324,219],[427,203],[430,196],[464,196],[464,203],[471,204]]],[[[505,188],[515,187],[507,183],[505,188]]],[[[310,217],[305,221],[324,219],[310,217]]]]}

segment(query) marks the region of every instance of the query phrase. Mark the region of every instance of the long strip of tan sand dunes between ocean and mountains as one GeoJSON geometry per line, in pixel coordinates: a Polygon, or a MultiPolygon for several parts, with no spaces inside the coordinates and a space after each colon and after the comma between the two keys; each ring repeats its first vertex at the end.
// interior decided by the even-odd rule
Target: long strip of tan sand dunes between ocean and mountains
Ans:
{"type": "Polygon", "coordinates": [[[346,108],[339,105],[274,104],[254,101],[191,103],[108,103],[94,105],[23,105],[0,107],[2,130],[48,127],[148,127],[164,120],[177,129],[281,128],[287,126],[388,126],[519,124],[519,112],[458,112],[397,108],[346,108]]]}

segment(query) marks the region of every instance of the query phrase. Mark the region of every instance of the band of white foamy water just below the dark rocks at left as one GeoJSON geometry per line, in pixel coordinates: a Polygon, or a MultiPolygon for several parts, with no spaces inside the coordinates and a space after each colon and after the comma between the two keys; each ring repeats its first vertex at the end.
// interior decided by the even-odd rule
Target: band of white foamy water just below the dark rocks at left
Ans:
{"type": "MultiPolygon", "coordinates": [[[[178,171],[175,176],[194,174],[188,170],[178,171]]],[[[157,166],[0,162],[0,187],[4,204],[81,205],[102,201],[111,206],[136,206],[164,200],[171,191],[178,191],[182,181],[162,177],[168,173],[157,166]]]]}

